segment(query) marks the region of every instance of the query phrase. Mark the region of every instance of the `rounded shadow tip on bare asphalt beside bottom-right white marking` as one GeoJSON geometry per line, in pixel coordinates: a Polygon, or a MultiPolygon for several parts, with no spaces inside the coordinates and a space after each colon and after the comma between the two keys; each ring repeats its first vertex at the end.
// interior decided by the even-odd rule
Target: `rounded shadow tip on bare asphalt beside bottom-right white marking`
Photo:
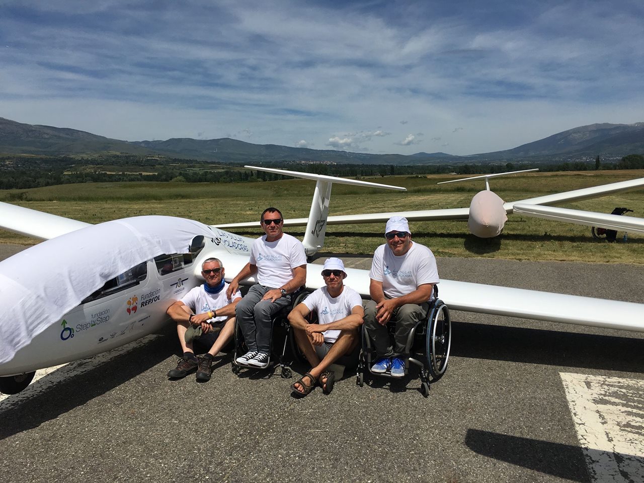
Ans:
{"type": "Polygon", "coordinates": [[[465,444],[479,455],[559,478],[589,482],[582,448],[469,429],[465,444]]]}

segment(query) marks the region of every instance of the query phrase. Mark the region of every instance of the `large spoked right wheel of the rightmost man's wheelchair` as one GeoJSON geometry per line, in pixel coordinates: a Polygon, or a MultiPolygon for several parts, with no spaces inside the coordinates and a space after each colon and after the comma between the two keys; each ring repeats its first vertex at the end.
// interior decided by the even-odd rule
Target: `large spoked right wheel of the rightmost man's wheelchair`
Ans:
{"type": "Polygon", "coordinates": [[[426,357],[431,377],[437,381],[445,374],[451,346],[450,310],[437,300],[427,321],[426,357]]]}

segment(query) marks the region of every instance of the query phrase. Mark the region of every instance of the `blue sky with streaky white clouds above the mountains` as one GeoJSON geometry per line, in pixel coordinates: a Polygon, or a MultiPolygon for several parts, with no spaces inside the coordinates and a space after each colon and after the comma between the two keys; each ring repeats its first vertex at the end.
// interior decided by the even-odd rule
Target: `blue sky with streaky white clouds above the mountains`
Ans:
{"type": "Polygon", "coordinates": [[[0,0],[0,117],[412,154],[644,121],[636,1],[0,0]]]}

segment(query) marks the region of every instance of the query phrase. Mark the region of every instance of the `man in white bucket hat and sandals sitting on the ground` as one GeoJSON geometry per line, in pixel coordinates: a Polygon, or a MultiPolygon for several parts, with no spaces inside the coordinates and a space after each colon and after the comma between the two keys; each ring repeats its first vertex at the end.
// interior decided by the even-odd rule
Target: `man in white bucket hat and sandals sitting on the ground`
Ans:
{"type": "Polygon", "coordinates": [[[298,346],[311,369],[291,389],[305,396],[319,383],[325,394],[333,390],[335,374],[328,366],[336,361],[350,365],[357,360],[358,328],[365,314],[362,299],[354,289],[344,284],[345,264],[339,258],[327,258],[322,269],[326,287],[310,294],[291,310],[290,326],[298,346]],[[317,323],[307,323],[305,317],[315,310],[317,323]],[[354,357],[351,357],[354,355],[354,357]]]}

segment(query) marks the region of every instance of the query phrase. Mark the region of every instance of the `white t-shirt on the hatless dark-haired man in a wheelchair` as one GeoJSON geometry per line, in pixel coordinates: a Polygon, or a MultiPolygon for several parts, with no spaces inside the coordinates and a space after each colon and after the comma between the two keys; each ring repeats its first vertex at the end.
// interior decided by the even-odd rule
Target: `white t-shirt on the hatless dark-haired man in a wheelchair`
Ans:
{"type": "Polygon", "coordinates": [[[256,279],[265,287],[278,288],[293,278],[293,269],[307,264],[304,245],[283,233],[279,240],[267,242],[266,235],[252,243],[251,265],[257,265],[256,279]]]}

